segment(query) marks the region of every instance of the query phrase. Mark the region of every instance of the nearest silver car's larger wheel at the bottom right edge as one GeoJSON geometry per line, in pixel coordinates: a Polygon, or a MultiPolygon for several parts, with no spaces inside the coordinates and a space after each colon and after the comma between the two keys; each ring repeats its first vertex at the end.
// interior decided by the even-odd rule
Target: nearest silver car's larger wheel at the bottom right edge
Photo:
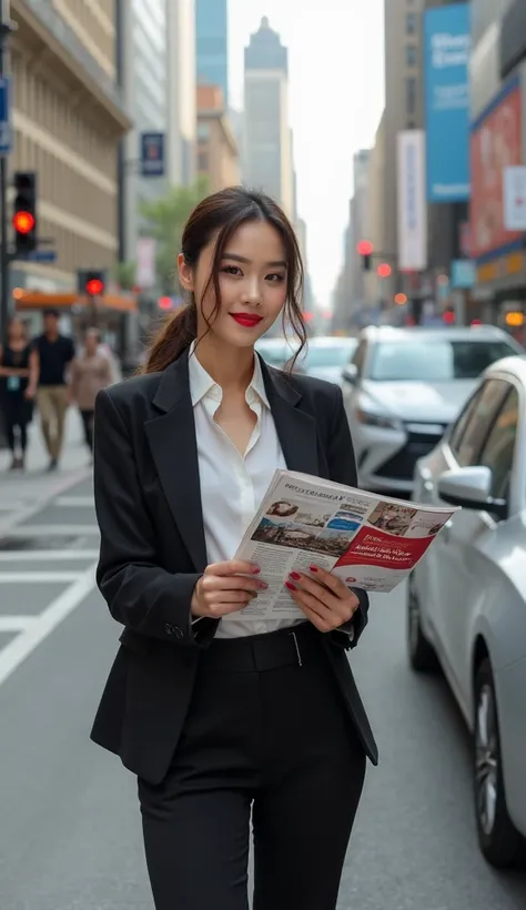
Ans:
{"type": "Polygon", "coordinates": [[[475,677],[474,788],[478,843],[497,869],[514,866],[523,838],[508,816],[492,666],[486,658],[475,677]]]}

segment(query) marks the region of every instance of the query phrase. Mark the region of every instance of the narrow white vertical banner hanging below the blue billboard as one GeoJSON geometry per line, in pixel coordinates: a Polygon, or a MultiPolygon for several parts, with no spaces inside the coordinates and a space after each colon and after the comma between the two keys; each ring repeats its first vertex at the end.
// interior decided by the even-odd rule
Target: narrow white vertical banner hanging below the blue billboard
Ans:
{"type": "Polygon", "coordinates": [[[397,144],[398,269],[422,272],[427,266],[423,130],[398,133],[397,144]]]}

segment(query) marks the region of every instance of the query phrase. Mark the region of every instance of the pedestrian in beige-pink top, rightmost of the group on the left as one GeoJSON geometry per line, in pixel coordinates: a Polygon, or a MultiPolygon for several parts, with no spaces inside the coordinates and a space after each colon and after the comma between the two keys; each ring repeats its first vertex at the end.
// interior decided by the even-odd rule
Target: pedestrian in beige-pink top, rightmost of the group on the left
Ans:
{"type": "Polygon", "coordinates": [[[95,398],[101,388],[105,388],[112,382],[111,362],[100,351],[99,331],[89,328],[84,335],[84,350],[71,364],[71,402],[74,402],[80,411],[84,441],[90,453],[93,451],[95,398]]]}

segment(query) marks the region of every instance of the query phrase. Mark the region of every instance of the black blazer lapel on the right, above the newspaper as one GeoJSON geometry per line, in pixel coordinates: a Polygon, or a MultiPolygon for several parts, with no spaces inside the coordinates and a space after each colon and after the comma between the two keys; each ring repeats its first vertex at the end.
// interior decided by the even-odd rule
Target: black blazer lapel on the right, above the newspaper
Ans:
{"type": "Polygon", "coordinates": [[[277,370],[260,357],[265,391],[289,471],[318,476],[316,421],[299,407],[302,396],[277,370]]]}

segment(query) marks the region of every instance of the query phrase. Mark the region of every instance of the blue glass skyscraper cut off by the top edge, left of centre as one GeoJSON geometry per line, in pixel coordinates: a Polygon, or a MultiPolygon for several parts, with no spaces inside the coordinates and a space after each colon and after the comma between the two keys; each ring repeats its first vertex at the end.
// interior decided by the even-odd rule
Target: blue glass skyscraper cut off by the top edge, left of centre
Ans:
{"type": "Polygon", "coordinates": [[[199,83],[219,85],[229,107],[227,0],[195,0],[196,77],[199,83]]]}

